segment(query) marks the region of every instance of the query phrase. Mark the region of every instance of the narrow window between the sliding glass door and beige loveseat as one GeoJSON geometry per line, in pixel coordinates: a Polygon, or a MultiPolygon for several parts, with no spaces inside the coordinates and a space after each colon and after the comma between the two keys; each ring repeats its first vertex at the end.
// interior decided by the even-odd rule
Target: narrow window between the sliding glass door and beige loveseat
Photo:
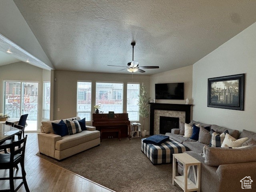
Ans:
{"type": "Polygon", "coordinates": [[[44,82],[43,83],[43,112],[42,112],[42,118],[44,120],[50,120],[50,93],[51,93],[51,83],[44,82]]]}

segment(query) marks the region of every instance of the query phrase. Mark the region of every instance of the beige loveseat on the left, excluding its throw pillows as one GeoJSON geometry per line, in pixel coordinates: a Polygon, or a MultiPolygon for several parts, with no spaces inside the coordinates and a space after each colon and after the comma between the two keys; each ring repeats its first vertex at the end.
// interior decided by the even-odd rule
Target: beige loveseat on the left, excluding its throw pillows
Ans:
{"type": "MultiPolygon", "coordinates": [[[[80,120],[80,117],[73,117],[80,120]]],[[[72,118],[63,119],[72,121],[72,118]]],[[[86,126],[87,130],[74,135],[63,137],[54,134],[52,122],[59,123],[61,120],[42,122],[41,133],[38,133],[38,148],[41,154],[45,154],[57,160],[62,160],[100,144],[100,132],[95,127],[86,126]]]]}

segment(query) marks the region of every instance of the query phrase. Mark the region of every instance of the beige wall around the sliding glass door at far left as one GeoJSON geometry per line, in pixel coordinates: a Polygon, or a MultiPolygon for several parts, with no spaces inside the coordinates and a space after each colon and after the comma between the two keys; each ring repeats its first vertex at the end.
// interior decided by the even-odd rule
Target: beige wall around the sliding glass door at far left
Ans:
{"type": "Polygon", "coordinates": [[[43,70],[25,62],[0,66],[0,112],[3,111],[4,80],[38,82],[38,128],[42,122],[42,82],[50,81],[50,71],[43,70]]]}

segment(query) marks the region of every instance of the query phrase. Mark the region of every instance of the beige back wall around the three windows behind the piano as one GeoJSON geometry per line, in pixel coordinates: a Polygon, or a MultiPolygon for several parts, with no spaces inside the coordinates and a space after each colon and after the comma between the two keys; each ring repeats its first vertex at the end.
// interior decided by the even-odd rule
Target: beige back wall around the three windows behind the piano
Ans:
{"type": "MultiPolygon", "coordinates": [[[[123,82],[124,83],[124,102],[123,111],[126,112],[126,90],[127,83],[132,82],[132,74],[110,74],[110,73],[91,73],[73,71],[54,71],[54,110],[53,119],[70,118],[76,116],[76,86],[79,80],[92,82],[92,113],[95,105],[96,81],[123,82]],[[60,108],[58,112],[57,109],[60,108]]],[[[133,82],[144,82],[148,92],[150,79],[147,75],[133,75],[133,82]]],[[[51,84],[52,86],[52,84],[51,84]]],[[[140,118],[140,123],[142,119],[140,118]]],[[[86,122],[91,125],[92,122],[86,122]]],[[[145,129],[149,131],[149,118],[145,120],[145,129]]]]}

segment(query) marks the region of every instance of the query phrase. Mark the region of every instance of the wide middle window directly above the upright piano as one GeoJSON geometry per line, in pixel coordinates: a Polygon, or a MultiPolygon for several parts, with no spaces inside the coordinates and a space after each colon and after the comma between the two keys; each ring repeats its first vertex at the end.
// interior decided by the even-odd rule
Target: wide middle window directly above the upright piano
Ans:
{"type": "Polygon", "coordinates": [[[108,113],[123,112],[123,83],[96,82],[96,105],[100,105],[100,111],[108,113]]]}

